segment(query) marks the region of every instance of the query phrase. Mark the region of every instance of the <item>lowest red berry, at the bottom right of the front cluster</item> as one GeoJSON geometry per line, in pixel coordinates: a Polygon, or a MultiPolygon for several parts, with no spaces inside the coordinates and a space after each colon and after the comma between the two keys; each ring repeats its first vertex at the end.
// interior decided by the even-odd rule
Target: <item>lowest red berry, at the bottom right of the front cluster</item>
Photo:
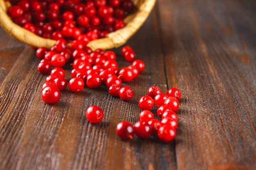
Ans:
{"type": "Polygon", "coordinates": [[[157,132],[158,138],[163,142],[171,142],[176,136],[176,131],[170,126],[161,126],[157,132]]]}

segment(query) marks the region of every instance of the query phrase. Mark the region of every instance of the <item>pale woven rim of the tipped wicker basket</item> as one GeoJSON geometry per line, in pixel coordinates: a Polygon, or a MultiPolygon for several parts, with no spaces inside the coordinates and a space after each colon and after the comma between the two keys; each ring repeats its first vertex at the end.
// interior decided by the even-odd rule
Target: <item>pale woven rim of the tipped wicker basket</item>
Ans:
{"type": "MultiPolygon", "coordinates": [[[[126,26],[115,32],[109,33],[106,38],[93,40],[89,42],[93,50],[95,49],[112,49],[117,48],[126,43],[126,41],[141,27],[153,9],[156,0],[132,0],[137,7],[137,11],[128,15],[124,22],[126,26]]],[[[35,47],[50,48],[55,44],[55,40],[41,38],[26,29],[13,23],[7,15],[8,3],[0,0],[0,26],[17,40],[35,47]]]]}

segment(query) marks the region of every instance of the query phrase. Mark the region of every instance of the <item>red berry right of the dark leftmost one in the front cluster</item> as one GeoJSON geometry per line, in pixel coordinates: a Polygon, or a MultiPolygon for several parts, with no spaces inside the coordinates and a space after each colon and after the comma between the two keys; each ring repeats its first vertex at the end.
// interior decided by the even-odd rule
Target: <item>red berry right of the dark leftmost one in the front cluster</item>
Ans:
{"type": "Polygon", "coordinates": [[[135,135],[141,139],[147,139],[152,134],[151,126],[145,121],[137,121],[133,128],[135,135]]]}

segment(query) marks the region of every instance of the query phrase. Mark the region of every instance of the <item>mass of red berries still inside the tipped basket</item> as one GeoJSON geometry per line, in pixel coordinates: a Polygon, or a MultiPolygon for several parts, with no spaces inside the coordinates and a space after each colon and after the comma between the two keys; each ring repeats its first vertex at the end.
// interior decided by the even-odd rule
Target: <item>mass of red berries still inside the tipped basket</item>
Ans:
{"type": "Polygon", "coordinates": [[[13,22],[43,38],[89,40],[104,38],[123,28],[135,10],[130,0],[6,0],[13,22]]]}

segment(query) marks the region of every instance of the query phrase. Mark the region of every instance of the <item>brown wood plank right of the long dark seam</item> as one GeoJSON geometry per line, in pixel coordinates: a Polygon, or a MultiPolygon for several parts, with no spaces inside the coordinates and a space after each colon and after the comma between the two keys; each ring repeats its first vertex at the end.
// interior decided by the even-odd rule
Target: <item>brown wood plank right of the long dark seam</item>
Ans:
{"type": "Polygon", "coordinates": [[[159,0],[159,9],[168,88],[183,94],[177,168],[255,169],[255,2],[159,0]]]}

